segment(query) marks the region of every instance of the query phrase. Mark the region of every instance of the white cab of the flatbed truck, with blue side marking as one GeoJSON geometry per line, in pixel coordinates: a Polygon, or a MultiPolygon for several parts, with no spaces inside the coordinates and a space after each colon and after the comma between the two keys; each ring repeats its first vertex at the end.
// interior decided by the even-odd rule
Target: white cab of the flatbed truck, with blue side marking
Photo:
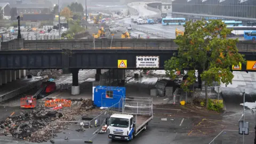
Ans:
{"type": "Polygon", "coordinates": [[[109,135],[110,139],[132,140],[134,137],[135,121],[133,115],[128,114],[113,114],[109,120],[109,135]]]}

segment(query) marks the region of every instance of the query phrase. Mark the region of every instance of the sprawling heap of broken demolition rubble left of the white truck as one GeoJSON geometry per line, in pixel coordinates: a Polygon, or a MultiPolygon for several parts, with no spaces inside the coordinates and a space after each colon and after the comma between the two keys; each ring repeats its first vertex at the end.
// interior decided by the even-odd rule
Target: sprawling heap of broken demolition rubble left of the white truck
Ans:
{"type": "MultiPolygon", "coordinates": [[[[11,115],[0,122],[0,134],[30,142],[44,142],[50,140],[55,133],[67,129],[69,123],[54,121],[74,121],[75,117],[83,112],[82,109],[91,110],[91,100],[74,101],[71,108],[55,111],[51,108],[39,107],[29,113],[11,115]]],[[[55,134],[56,135],[56,134],[55,134]]]]}

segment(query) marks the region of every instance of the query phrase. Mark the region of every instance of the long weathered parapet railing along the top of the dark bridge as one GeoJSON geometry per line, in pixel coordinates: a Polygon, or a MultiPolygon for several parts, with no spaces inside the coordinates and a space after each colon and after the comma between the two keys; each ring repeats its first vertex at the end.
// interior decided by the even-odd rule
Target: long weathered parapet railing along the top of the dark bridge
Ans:
{"type": "MultiPolygon", "coordinates": [[[[42,40],[22,41],[13,39],[2,42],[2,51],[10,50],[177,50],[174,39],[83,39],[83,40],[42,40]],[[110,47],[111,45],[111,47],[110,47]]],[[[256,42],[239,41],[237,48],[240,52],[255,52],[256,42]]]]}

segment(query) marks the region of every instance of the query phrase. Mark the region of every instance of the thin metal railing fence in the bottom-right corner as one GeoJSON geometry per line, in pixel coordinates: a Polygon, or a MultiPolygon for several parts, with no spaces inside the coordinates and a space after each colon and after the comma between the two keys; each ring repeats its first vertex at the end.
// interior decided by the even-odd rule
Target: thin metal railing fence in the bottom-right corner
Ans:
{"type": "MultiPolygon", "coordinates": [[[[244,135],[244,143],[254,143],[254,131],[244,135]]],[[[243,143],[243,135],[238,130],[223,130],[209,144],[240,144],[243,143]]]]}

